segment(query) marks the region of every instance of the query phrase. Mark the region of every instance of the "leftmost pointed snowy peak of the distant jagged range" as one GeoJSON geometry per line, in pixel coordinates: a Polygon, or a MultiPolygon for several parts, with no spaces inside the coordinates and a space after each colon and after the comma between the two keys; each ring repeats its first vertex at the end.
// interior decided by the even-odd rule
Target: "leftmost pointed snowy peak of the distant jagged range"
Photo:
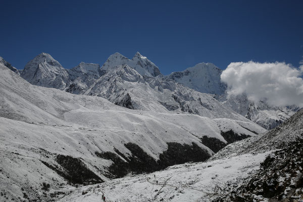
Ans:
{"type": "Polygon", "coordinates": [[[46,53],[41,53],[29,61],[21,77],[33,85],[58,89],[64,89],[70,83],[68,70],[46,53]]]}

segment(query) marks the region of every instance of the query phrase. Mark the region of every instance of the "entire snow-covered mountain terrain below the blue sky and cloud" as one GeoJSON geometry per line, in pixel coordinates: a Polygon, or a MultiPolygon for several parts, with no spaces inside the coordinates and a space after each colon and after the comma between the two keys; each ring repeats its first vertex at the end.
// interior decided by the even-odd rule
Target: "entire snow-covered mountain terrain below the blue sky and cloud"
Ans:
{"type": "MultiPolygon", "coordinates": [[[[302,111],[227,96],[211,63],[165,76],[139,53],[72,69],[42,53],[22,71],[1,58],[0,72],[3,201],[245,201],[261,193],[247,181],[271,180],[268,161],[300,163],[302,111]]],[[[295,166],[271,173],[285,186],[264,200],[296,196],[295,166]]]]}

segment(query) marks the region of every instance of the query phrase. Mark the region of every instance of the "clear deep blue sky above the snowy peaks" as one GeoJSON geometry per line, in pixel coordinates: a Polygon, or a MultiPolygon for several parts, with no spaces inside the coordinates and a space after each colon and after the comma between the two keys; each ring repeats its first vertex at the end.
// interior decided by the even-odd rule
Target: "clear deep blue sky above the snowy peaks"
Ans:
{"type": "Polygon", "coordinates": [[[303,55],[303,1],[3,1],[0,56],[18,69],[41,52],[63,67],[139,51],[164,74],[200,62],[303,55]]]}

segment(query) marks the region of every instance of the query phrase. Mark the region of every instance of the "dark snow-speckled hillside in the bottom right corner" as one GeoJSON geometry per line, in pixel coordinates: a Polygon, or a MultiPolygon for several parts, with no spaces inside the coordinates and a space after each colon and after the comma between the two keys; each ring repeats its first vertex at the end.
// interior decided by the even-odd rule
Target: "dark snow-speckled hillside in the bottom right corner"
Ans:
{"type": "Polygon", "coordinates": [[[275,151],[262,163],[257,174],[225,196],[213,201],[259,201],[254,196],[270,201],[295,201],[303,194],[303,140],[298,139],[275,151]]]}

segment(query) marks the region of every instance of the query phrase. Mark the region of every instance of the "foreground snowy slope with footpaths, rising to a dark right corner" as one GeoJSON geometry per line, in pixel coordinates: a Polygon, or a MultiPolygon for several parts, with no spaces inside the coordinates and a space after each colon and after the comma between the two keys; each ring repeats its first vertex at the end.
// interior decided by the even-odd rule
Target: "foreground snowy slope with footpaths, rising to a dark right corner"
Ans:
{"type": "Polygon", "coordinates": [[[98,201],[102,195],[117,202],[301,201],[302,123],[303,110],[264,135],[226,146],[205,163],[81,187],[59,201],[98,201]]]}

